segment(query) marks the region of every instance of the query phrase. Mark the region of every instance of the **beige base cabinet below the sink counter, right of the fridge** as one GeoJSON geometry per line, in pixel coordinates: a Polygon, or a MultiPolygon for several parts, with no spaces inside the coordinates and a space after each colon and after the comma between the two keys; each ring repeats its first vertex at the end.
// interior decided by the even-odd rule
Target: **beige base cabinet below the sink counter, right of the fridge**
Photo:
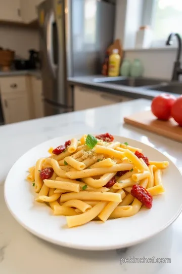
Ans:
{"type": "Polygon", "coordinates": [[[74,86],[74,110],[85,110],[129,101],[131,98],[103,91],[74,86]]]}

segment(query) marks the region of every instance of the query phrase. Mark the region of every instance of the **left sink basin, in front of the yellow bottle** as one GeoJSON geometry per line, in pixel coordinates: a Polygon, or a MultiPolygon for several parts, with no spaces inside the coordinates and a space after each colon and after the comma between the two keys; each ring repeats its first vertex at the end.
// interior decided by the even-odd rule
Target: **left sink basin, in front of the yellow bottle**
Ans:
{"type": "Polygon", "coordinates": [[[143,86],[152,86],[158,85],[164,80],[152,79],[152,78],[125,78],[125,77],[105,77],[105,78],[95,78],[95,83],[105,83],[112,85],[123,85],[130,87],[143,87],[143,86]]]}

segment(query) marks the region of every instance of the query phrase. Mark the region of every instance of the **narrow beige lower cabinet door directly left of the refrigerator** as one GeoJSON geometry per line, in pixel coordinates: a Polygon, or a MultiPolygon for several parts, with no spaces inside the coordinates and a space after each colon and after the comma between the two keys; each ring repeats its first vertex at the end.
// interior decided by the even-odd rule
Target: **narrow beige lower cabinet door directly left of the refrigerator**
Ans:
{"type": "Polygon", "coordinates": [[[41,79],[32,77],[32,92],[35,118],[44,117],[41,79]]]}

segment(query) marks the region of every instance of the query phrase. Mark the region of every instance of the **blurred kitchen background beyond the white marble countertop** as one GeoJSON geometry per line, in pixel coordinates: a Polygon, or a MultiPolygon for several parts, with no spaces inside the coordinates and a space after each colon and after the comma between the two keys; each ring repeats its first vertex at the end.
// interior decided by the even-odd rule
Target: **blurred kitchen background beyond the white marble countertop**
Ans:
{"type": "Polygon", "coordinates": [[[182,94],[181,25],[181,0],[0,0],[0,125],[182,94]]]}

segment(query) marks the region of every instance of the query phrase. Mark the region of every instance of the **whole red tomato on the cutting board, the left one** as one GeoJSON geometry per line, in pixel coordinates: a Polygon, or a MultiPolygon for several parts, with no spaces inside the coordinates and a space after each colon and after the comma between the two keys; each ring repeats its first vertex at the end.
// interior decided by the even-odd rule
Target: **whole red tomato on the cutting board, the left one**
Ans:
{"type": "Polygon", "coordinates": [[[170,94],[162,93],[152,101],[152,113],[160,120],[168,120],[171,116],[171,108],[176,97],[170,94]]]}

